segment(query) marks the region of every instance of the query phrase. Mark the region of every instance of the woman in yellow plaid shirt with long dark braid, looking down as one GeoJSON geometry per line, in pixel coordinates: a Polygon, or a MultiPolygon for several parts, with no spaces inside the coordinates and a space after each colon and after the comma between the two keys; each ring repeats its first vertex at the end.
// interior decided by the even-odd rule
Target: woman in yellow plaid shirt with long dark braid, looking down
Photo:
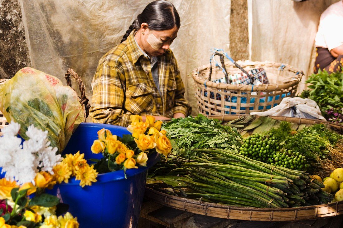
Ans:
{"type": "Polygon", "coordinates": [[[95,123],[128,126],[130,116],[156,120],[190,115],[173,52],[180,17],[165,0],[149,3],[121,43],[100,60],[92,81],[91,117],[95,123]]]}

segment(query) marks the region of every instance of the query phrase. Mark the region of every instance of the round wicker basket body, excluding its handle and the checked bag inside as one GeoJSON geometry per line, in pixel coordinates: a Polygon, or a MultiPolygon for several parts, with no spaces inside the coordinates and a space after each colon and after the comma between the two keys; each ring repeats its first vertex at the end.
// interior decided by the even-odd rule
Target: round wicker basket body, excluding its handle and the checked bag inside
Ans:
{"type": "MultiPolygon", "coordinates": [[[[245,70],[263,68],[270,84],[243,85],[215,83],[208,80],[210,65],[192,72],[199,113],[204,115],[249,114],[271,109],[288,96],[295,96],[304,73],[289,65],[275,62],[237,61],[245,70]]],[[[225,63],[229,74],[240,73],[232,62],[225,63]]],[[[211,80],[223,78],[219,67],[212,69],[211,80]]]]}

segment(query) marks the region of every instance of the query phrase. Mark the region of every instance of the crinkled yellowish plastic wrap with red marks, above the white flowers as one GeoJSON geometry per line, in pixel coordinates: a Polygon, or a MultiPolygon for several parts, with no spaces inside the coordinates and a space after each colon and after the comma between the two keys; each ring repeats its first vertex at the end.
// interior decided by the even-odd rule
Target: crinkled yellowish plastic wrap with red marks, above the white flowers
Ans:
{"type": "Polygon", "coordinates": [[[0,86],[0,110],[8,122],[21,125],[20,136],[27,139],[27,127],[48,131],[52,147],[62,152],[73,130],[83,120],[76,92],[42,71],[25,67],[0,86]]]}

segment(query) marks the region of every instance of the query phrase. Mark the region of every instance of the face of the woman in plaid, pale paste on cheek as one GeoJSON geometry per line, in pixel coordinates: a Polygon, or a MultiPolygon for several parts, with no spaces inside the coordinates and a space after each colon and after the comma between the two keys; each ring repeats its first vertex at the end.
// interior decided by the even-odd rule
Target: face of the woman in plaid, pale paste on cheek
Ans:
{"type": "Polygon", "coordinates": [[[177,37],[178,31],[176,26],[173,29],[163,31],[150,30],[147,26],[141,27],[140,32],[144,32],[144,35],[141,36],[144,51],[150,56],[163,55],[177,37]]]}

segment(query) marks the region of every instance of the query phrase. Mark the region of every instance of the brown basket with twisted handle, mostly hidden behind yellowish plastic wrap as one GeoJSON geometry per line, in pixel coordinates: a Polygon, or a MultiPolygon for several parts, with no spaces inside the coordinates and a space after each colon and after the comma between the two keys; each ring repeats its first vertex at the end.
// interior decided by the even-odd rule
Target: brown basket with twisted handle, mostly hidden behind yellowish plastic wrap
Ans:
{"type": "MultiPolygon", "coordinates": [[[[68,69],[67,73],[64,76],[64,79],[66,79],[67,85],[72,88],[71,77],[73,77],[76,80],[76,82],[78,83],[79,90],[81,93],[81,97],[78,96],[78,98],[79,98],[79,101],[81,103],[83,113],[84,113],[83,122],[86,122],[86,118],[89,114],[89,109],[90,109],[91,105],[88,103],[88,101],[89,101],[88,98],[86,98],[85,89],[84,89],[84,85],[82,83],[81,77],[77,73],[75,73],[73,69],[68,69]]],[[[9,79],[0,79],[0,85],[5,83],[7,80],[9,80],[9,79]]],[[[0,136],[2,135],[1,129],[4,128],[5,125],[8,125],[8,122],[0,111],[0,136]]]]}

